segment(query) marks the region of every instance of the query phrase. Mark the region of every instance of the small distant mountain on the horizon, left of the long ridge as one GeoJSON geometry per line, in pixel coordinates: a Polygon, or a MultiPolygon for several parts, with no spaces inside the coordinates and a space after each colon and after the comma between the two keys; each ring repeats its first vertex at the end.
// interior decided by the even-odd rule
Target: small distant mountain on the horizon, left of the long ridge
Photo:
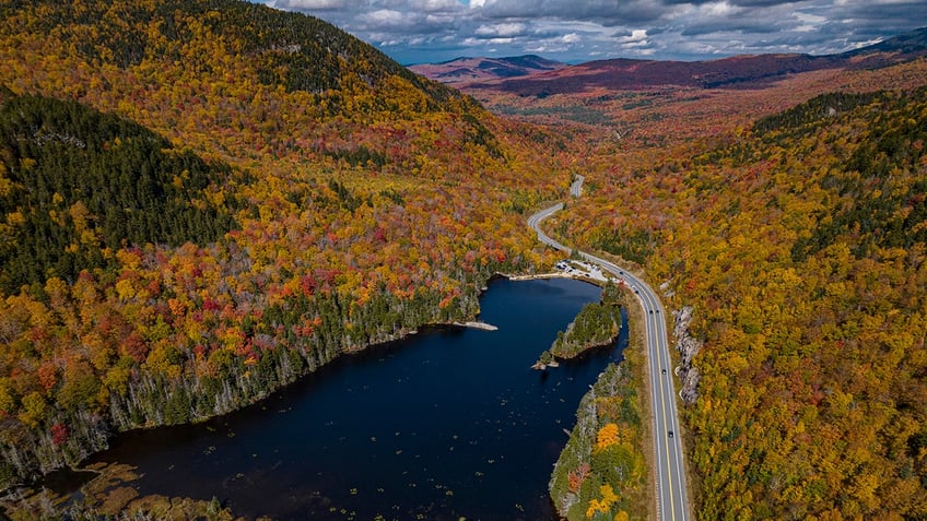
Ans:
{"type": "Polygon", "coordinates": [[[555,71],[566,63],[548,60],[536,55],[508,58],[457,58],[442,63],[423,63],[409,67],[427,79],[446,84],[465,84],[476,81],[518,78],[538,72],[555,71]]]}

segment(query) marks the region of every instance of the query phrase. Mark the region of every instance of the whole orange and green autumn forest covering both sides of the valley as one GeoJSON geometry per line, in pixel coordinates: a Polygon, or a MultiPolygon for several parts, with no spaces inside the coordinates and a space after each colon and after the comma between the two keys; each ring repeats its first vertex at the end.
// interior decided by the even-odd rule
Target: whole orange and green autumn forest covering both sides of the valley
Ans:
{"type": "MultiPolygon", "coordinates": [[[[540,96],[236,0],[7,1],[0,39],[0,488],[472,320],[560,260],[526,220],[582,174],[544,227],[674,311],[696,519],[927,519],[924,52],[540,96]]],[[[606,293],[545,355],[614,335],[606,293]]],[[[631,351],[577,404],[571,520],[652,517],[631,351]]]]}

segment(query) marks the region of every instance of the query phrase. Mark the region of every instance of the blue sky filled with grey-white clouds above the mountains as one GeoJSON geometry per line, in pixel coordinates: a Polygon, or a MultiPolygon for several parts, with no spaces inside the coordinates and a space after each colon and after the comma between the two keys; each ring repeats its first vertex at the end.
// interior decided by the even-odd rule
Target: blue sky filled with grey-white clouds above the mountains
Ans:
{"type": "Polygon", "coordinates": [[[925,0],[266,0],[404,64],[461,56],[713,59],[840,52],[927,25],[925,0]]]}

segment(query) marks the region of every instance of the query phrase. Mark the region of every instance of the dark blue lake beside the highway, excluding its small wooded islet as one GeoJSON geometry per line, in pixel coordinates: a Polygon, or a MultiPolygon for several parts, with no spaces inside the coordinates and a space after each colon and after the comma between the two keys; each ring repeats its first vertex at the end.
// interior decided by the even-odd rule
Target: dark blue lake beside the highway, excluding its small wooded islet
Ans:
{"type": "Polygon", "coordinates": [[[529,366],[599,294],[496,281],[481,320],[498,331],[427,330],[341,357],[238,413],[119,436],[94,461],[138,466],[142,494],[215,496],[249,518],[554,519],[563,429],[620,350],[529,366]]]}

